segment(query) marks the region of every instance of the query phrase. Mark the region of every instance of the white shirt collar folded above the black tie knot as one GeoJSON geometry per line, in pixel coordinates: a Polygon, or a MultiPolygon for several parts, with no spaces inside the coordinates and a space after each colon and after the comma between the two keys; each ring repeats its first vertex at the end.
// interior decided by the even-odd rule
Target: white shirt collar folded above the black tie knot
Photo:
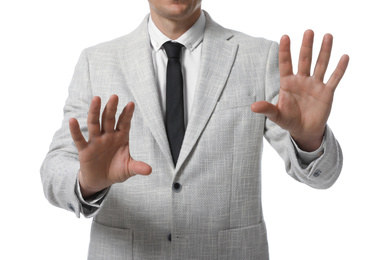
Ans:
{"type": "MultiPolygon", "coordinates": [[[[193,51],[203,41],[205,27],[206,17],[202,12],[196,23],[174,42],[181,43],[189,51],[193,51]]],[[[160,50],[165,42],[172,41],[157,28],[151,16],[149,16],[148,31],[150,43],[155,51],[160,50]]]]}

